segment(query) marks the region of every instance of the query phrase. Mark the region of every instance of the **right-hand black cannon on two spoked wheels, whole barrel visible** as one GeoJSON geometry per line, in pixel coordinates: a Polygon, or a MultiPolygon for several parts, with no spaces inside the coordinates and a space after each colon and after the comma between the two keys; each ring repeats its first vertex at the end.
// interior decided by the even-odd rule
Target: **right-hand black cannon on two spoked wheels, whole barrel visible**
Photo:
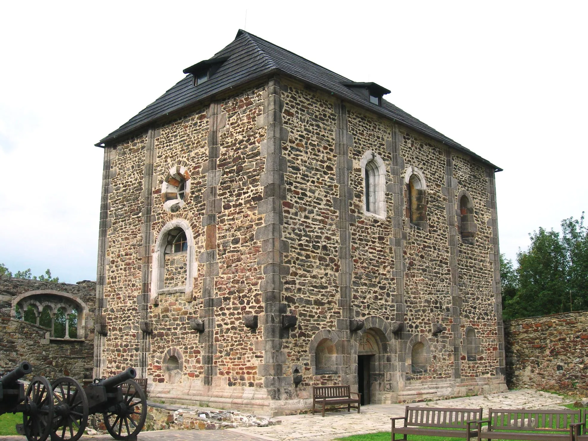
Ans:
{"type": "Polygon", "coordinates": [[[104,425],[114,439],[132,440],[143,429],[147,398],[132,379],[136,371],[128,368],[118,375],[82,387],[71,377],[52,383],[55,419],[52,441],[76,441],[83,435],[88,415],[102,413],[104,425]]]}

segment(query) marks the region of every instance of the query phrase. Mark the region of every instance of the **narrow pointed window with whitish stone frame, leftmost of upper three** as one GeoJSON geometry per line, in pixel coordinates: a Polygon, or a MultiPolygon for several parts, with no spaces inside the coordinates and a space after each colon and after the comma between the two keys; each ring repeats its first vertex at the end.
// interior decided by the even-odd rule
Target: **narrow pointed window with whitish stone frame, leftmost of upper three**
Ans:
{"type": "Polygon", "coordinates": [[[386,165],[373,151],[363,154],[363,214],[376,219],[386,218],[386,165]]]}

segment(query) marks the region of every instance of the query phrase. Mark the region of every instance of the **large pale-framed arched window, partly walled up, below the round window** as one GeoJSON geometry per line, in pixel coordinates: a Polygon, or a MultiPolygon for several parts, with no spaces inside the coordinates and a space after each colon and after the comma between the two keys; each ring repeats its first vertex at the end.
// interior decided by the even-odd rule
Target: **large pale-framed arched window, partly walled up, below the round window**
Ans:
{"type": "Polygon", "coordinates": [[[151,273],[151,302],[159,294],[185,292],[192,299],[196,273],[195,249],[190,224],[174,219],[159,232],[155,241],[151,273]]]}

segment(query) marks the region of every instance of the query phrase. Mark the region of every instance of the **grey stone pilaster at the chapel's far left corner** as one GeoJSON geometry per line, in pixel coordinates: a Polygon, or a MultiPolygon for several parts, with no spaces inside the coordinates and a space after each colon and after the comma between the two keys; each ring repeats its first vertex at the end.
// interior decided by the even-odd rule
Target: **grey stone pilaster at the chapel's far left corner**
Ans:
{"type": "MultiPolygon", "coordinates": [[[[106,249],[108,249],[108,228],[111,221],[108,218],[110,211],[109,194],[112,193],[112,161],[116,158],[116,148],[104,148],[104,165],[102,169],[102,198],[100,202],[100,224],[98,228],[98,268],[96,271],[96,312],[94,323],[101,323],[103,311],[108,307],[104,298],[104,287],[106,286],[106,249]]],[[[105,337],[98,332],[94,337],[94,378],[102,377],[106,369],[106,358],[104,356],[105,337]]]]}

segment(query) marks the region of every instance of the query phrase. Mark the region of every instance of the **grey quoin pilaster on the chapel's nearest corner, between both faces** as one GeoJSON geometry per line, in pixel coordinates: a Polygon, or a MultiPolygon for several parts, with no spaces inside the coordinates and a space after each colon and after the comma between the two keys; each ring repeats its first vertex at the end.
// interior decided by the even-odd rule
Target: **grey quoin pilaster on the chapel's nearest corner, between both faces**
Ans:
{"type": "Polygon", "coordinates": [[[286,313],[286,305],[282,303],[282,276],[289,275],[290,268],[283,265],[283,253],[289,252],[289,245],[282,239],[282,201],[286,200],[284,173],[288,169],[286,158],[282,156],[282,142],[288,141],[288,130],[283,127],[281,88],[277,78],[269,80],[263,115],[256,121],[258,127],[266,127],[266,139],[260,145],[261,156],[265,156],[265,170],[259,183],[263,188],[263,200],[258,204],[263,225],[255,231],[255,239],[261,242],[257,263],[265,275],[260,283],[263,314],[259,325],[263,336],[256,349],[263,350],[263,363],[258,366],[258,374],[263,377],[263,386],[273,400],[280,399],[283,387],[292,386],[292,377],[283,376],[286,353],[282,350],[285,336],[282,315],[286,313]]]}

